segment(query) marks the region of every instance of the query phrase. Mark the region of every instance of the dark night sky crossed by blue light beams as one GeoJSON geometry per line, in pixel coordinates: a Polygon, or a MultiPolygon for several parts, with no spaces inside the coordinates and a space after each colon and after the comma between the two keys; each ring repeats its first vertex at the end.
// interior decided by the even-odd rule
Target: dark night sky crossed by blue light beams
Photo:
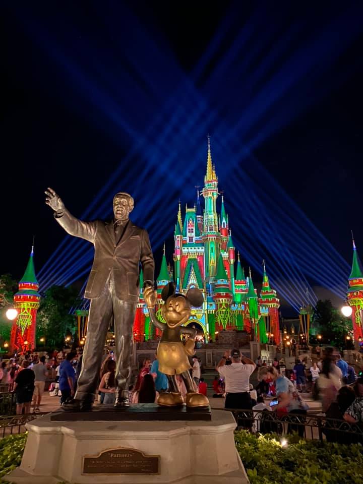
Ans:
{"type": "MultiPolygon", "coordinates": [[[[117,168],[115,187],[143,204],[133,220],[150,231],[166,217],[151,235],[158,270],[164,239],[169,259],[172,254],[178,198],[192,205],[195,185],[203,184],[208,133],[231,225],[243,219],[248,182],[240,170],[246,170],[276,201],[281,187],[319,230],[322,246],[328,240],[350,265],[353,229],[363,254],[358,3],[8,2],[1,13],[0,273],[22,275],[33,234],[37,271],[64,239],[44,204],[47,186],[81,216],[117,168]],[[199,117],[190,94],[196,91],[205,103],[199,117]],[[241,131],[227,142],[228,127],[238,123],[241,131]],[[248,145],[249,158],[236,157],[228,172],[230,156],[248,145]],[[167,153],[178,153],[177,162],[165,161],[167,153]],[[135,167],[147,176],[123,186],[135,167]],[[180,173],[185,191],[172,181],[180,173]],[[241,199],[228,206],[235,185],[241,199]],[[158,189],[164,197],[153,206],[158,189]]],[[[110,187],[102,201],[113,193],[110,187]]],[[[294,228],[281,236],[293,238],[294,228]]],[[[238,227],[241,252],[244,239],[238,227]]],[[[321,279],[310,283],[324,287],[321,279]]]]}

